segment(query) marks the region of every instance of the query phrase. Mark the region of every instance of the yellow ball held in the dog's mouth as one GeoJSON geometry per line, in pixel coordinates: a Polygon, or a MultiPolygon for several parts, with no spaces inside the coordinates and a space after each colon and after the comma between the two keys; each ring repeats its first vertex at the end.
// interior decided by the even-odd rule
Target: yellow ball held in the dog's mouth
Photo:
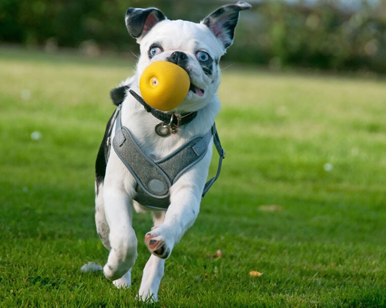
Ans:
{"type": "Polygon", "coordinates": [[[190,78],[186,71],[168,61],[155,61],[142,73],[139,88],[143,99],[155,109],[176,108],[189,91],[190,78]]]}

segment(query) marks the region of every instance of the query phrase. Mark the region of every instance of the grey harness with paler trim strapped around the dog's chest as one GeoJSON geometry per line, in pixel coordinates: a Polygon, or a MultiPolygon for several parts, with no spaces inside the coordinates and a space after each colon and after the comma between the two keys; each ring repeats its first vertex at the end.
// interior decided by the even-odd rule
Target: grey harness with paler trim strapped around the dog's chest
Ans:
{"type": "Polygon", "coordinates": [[[168,157],[154,161],[141,150],[130,130],[121,125],[119,111],[120,106],[114,115],[116,125],[112,145],[118,157],[137,181],[134,200],[146,207],[167,209],[170,204],[170,187],[184,172],[205,156],[213,136],[219,161],[216,175],[205,184],[202,194],[204,197],[220,175],[222,159],[225,157],[215,124],[204,136],[196,136],[168,157]]]}

